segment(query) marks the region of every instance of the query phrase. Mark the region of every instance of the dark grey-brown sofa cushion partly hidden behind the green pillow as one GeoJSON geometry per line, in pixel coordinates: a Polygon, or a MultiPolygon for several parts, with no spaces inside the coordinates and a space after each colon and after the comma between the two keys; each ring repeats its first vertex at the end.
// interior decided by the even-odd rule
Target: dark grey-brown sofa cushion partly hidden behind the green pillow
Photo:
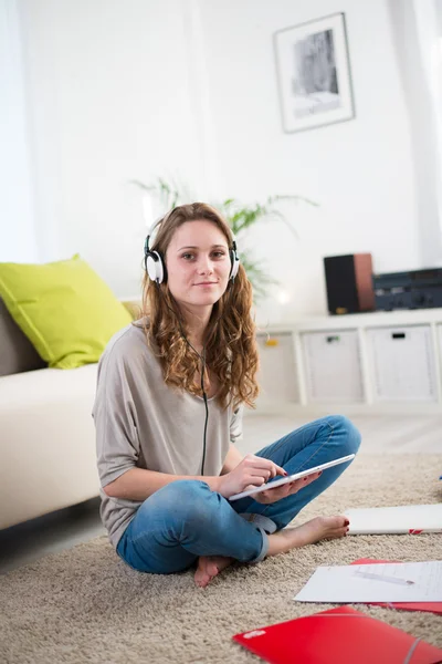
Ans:
{"type": "Polygon", "coordinates": [[[0,298],[0,376],[46,366],[0,298]]]}

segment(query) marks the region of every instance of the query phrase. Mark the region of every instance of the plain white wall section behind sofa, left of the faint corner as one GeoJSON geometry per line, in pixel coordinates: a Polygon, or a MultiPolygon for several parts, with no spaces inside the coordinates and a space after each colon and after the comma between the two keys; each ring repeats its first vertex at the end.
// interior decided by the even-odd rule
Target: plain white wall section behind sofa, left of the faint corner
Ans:
{"type": "Polygon", "coordinates": [[[22,13],[43,260],[78,251],[117,294],[138,293],[128,180],[203,179],[187,15],[180,0],[23,0],[22,13]]]}

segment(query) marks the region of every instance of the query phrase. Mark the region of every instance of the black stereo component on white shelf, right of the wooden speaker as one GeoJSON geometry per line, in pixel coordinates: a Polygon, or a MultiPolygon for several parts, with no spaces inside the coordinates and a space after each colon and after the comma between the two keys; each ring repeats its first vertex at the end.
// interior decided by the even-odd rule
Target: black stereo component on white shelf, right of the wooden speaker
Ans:
{"type": "Polygon", "coordinates": [[[376,309],[442,307],[442,268],[373,274],[376,309]]]}

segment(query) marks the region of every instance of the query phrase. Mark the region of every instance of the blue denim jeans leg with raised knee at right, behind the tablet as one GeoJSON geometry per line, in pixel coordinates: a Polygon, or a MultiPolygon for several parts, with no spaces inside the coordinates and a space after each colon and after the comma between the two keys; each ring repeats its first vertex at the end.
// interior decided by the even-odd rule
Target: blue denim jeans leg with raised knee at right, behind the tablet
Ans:
{"type": "MultiPolygon", "coordinates": [[[[332,461],[349,454],[356,454],[360,445],[360,434],[355,425],[343,415],[322,417],[256,453],[282,466],[288,475],[306,468],[332,461]]],[[[320,477],[302,488],[297,494],[287,496],[271,505],[261,505],[252,498],[242,498],[233,502],[239,513],[249,513],[253,522],[254,515],[262,515],[275,523],[280,530],[290,523],[311,500],[319,496],[344,473],[351,461],[327,468],[320,477]]]]}

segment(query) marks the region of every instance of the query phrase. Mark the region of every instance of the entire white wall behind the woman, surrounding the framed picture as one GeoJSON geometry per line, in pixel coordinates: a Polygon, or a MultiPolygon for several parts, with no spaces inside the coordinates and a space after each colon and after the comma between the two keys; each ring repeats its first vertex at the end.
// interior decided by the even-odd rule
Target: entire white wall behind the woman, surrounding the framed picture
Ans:
{"type": "MultiPolygon", "coordinates": [[[[117,294],[138,291],[144,222],[130,178],[179,175],[208,196],[301,194],[250,238],[291,298],[259,320],[325,313],[322,257],[421,266],[408,112],[388,0],[22,0],[43,260],[80,251],[117,294]],[[274,31],[344,11],[356,118],[281,127],[274,31]]],[[[276,292],[276,291],[275,291],[276,292]]]]}

